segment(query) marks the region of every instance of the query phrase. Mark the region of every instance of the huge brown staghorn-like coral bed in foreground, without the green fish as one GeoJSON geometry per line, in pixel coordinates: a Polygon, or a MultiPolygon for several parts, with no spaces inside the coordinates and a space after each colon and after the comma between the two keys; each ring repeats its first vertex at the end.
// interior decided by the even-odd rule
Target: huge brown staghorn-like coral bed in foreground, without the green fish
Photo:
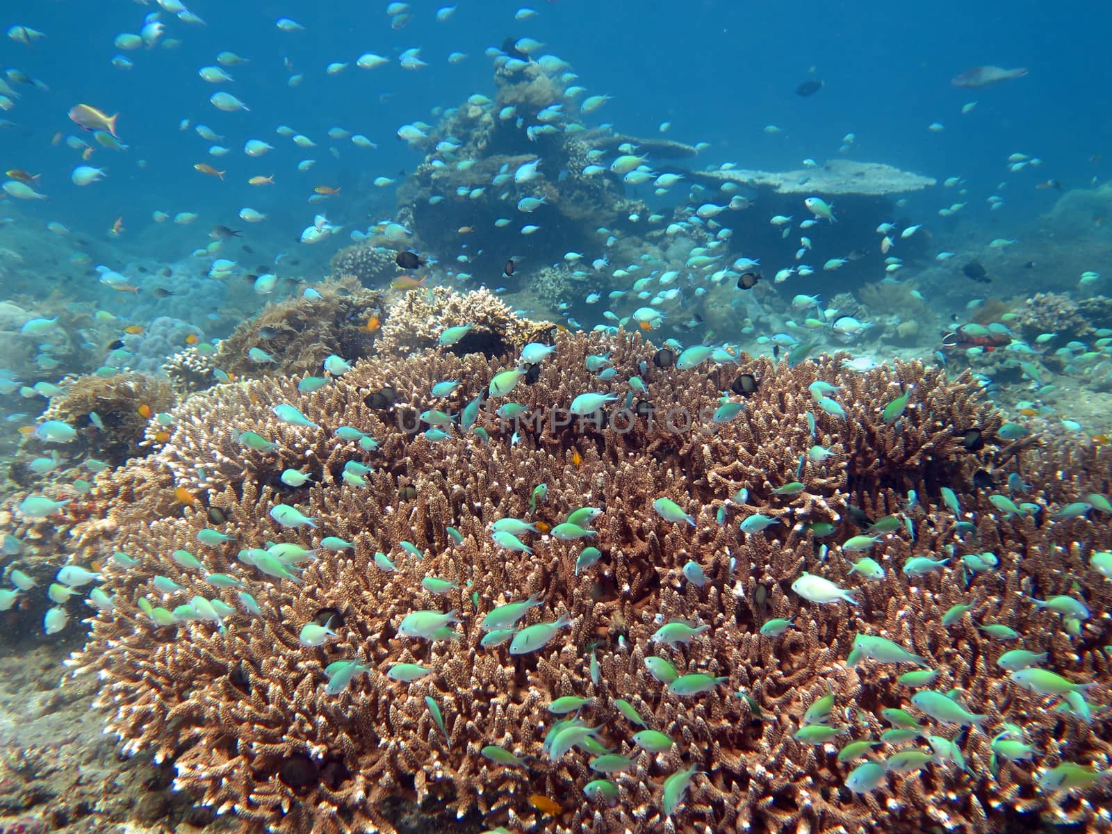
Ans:
{"type": "MultiPolygon", "coordinates": [[[[245,831],[391,831],[384,803],[397,797],[424,803],[427,813],[446,803],[458,816],[481,814],[487,824],[568,833],[933,825],[987,832],[1024,812],[1108,830],[1106,816],[1095,810],[1110,798],[1105,786],[1089,796],[1043,792],[1035,770],[1023,762],[1001,762],[993,775],[990,739],[1002,722],[1022,726],[1046,766],[1109,766],[1112,731],[1054,711],[1012,683],[995,661],[1015,644],[975,626],[1014,627],[1024,648],[1049,652],[1048,666],[1071,679],[1096,682],[1091,699],[1106,703],[1112,669],[1101,647],[1112,641],[1108,617],[1085,622],[1071,641],[1059,615],[1030,600],[1072,590],[1094,610],[1112,609],[1112,583],[1085,565],[1092,549],[1109,547],[1106,524],[1050,517],[1053,505],[1109,490],[1106,449],[1007,444],[996,435],[999,415],[979,404],[967,378],[947,381],[943,371],[919,364],[857,376],[843,371],[836,357],[794,368],[743,358],[741,367],[681,371],[639,336],[562,334],[556,346],[557,358],[523,380],[514,399],[543,410],[615,385],[585,369],[588,355],[609,353],[618,378],[645,379],[642,398],[652,404],[655,427],[647,424],[649,406],[638,403],[641,418],[632,430],[560,426],[547,416],[519,427],[514,443],[510,428],[484,413],[477,425],[488,441],[451,428],[447,439],[434,443],[405,427],[426,408],[460,410],[485,394],[512,357],[427,350],[359,361],[310,395],[274,377],[202,391],[177,409],[177,429],[165,447],[103,476],[98,488],[109,524],[76,530],[78,544],[88,557],[117,548],[138,564],[106,565],[115,610],[96,615],[89,643],[71,664],[103,678],[99,703],[126,748],[172,759],[179,787],[219,812],[234,811],[245,831]],[[669,409],[713,411],[719,393],[743,373],[753,376],[756,390],[736,419],[684,431],[664,425],[669,409]],[[445,379],[460,380],[447,405],[428,394],[445,379]],[[816,379],[842,386],[845,418],[815,408],[807,386],[816,379]],[[911,390],[910,405],[898,420],[885,421],[881,411],[901,387],[911,390]],[[294,404],[318,426],[278,421],[270,407],[279,403],[294,404]],[[815,416],[814,437],[806,413],[815,416]],[[340,426],[373,436],[377,449],[340,440],[340,426]],[[979,451],[963,443],[973,427],[986,444],[979,451]],[[278,446],[245,448],[237,438],[248,429],[278,446]],[[813,444],[833,456],[810,463],[813,444]],[[342,483],[350,460],[374,467],[367,486],[342,483]],[[312,480],[286,487],[278,476],[287,467],[312,480]],[[1048,505],[1035,517],[994,515],[985,490],[969,486],[979,468],[1001,479],[1021,467],[1048,505]],[[802,492],[774,492],[796,480],[805,485],[802,492]],[[159,502],[175,483],[201,498],[165,515],[159,502]],[[534,512],[530,496],[540,484],[547,496],[534,512]],[[956,492],[961,519],[940,499],[942,486],[956,492]],[[737,495],[743,488],[744,504],[737,495]],[[878,518],[905,507],[909,489],[919,494],[906,510],[915,535],[900,529],[875,543],[870,555],[885,568],[878,582],[851,574],[847,556],[856,554],[832,544],[826,555],[806,526],[830,522],[835,533],[826,540],[843,542],[855,532],[845,520],[847,503],[878,518]],[[694,524],[664,520],[652,507],[658,496],[678,502],[694,524]],[[278,526],[269,510],[279,503],[315,518],[316,528],[278,526]],[[528,556],[492,544],[488,526],[497,518],[555,526],[584,505],[603,509],[587,542],[526,535],[534,547],[528,556]],[[754,512],[781,524],[742,533],[737,522],[754,512]],[[716,520],[718,513],[725,523],[716,520]],[[960,538],[955,524],[973,518],[975,536],[960,538]],[[199,545],[197,534],[206,527],[231,538],[199,545]],[[316,547],[320,536],[353,547],[320,550],[297,582],[264,576],[237,559],[239,548],[271,540],[316,547]],[[407,554],[403,542],[421,556],[407,554]],[[602,557],[577,570],[584,544],[598,547],[602,557]],[[940,554],[951,544],[957,554],[991,550],[999,567],[970,576],[954,563],[923,576],[901,573],[911,556],[940,554]],[[203,569],[182,567],[171,557],[176,550],[196,554],[203,569]],[[396,569],[384,569],[377,552],[396,569]],[[705,574],[702,587],[685,578],[688,560],[705,574]],[[236,589],[207,584],[209,570],[241,582],[260,614],[246,613],[236,589]],[[790,590],[802,570],[856,588],[860,606],[803,602],[790,590]],[[181,590],[159,593],[156,575],[181,590]],[[459,588],[433,594],[421,585],[426,576],[459,588]],[[512,655],[507,644],[479,645],[479,623],[494,606],[533,595],[539,605],[522,625],[564,617],[568,627],[528,654],[512,655]],[[138,605],[146,598],[173,608],[199,596],[236,610],[222,627],[203,619],[159,627],[138,605]],[[972,606],[969,614],[943,626],[943,613],[959,603],[972,606]],[[418,609],[455,609],[463,622],[450,637],[434,642],[399,634],[403,617],[418,609]],[[781,637],[763,636],[758,629],[771,617],[792,618],[793,625],[781,637]],[[651,635],[672,619],[708,628],[685,645],[653,643],[651,635]],[[299,634],[314,622],[330,623],[336,636],[305,645],[299,634]],[[940,673],[934,688],[960,688],[971,711],[989,716],[984,731],[967,733],[925,722],[924,732],[957,739],[967,770],[933,763],[854,794],[844,783],[856,763],[837,762],[828,745],[793,738],[807,706],[828,691],[837,716],[832,723],[851,714],[858,724],[846,738],[878,736],[880,711],[907,706],[913,691],[896,681],[904,669],[872,661],[846,664],[857,634],[882,635],[924,656],[940,673]],[[675,695],[646,669],[652,655],[681,674],[728,681],[695,696],[675,695]],[[337,661],[358,661],[367,671],[328,694],[324,669],[337,661]],[[431,674],[394,682],[386,673],[396,663],[420,664],[431,674]],[[550,761],[542,752],[558,719],[547,706],[568,695],[590,698],[583,719],[600,727],[607,747],[633,759],[610,775],[613,805],[600,796],[577,798],[598,776],[588,768],[588,754],[573,749],[550,761]],[[618,712],[619,698],[672,737],[669,751],[634,746],[639,727],[618,712]],[[443,728],[429,699],[443,714],[443,728]],[[486,745],[523,761],[495,764],[480,754],[486,745]],[[664,781],[687,767],[698,775],[667,817],[664,781]],[[547,818],[543,808],[550,812],[553,801],[560,807],[547,818]]],[[[872,755],[886,757],[896,748],[888,744],[872,755]]]]}

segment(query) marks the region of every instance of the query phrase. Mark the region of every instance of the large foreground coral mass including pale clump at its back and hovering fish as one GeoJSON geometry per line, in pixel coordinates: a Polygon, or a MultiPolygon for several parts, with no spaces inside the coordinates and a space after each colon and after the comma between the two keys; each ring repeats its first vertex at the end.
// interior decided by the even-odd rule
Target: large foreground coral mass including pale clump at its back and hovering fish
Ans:
{"type": "Polygon", "coordinates": [[[1108,828],[1108,447],[914,363],[381,315],[14,525],[100,566],[68,663],[127,752],[244,831],[1108,828]]]}

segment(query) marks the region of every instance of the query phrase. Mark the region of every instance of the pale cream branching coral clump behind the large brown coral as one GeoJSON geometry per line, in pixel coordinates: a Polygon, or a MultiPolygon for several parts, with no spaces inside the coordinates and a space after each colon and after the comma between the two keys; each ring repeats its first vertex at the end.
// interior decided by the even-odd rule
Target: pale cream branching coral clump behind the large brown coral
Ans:
{"type": "Polygon", "coordinates": [[[390,306],[377,347],[380,354],[408,356],[435,348],[447,327],[471,330],[448,350],[460,356],[479,351],[488,357],[519,350],[530,341],[548,341],[552,321],[533,321],[514,311],[488,289],[456,292],[448,287],[410,290],[390,306]]]}

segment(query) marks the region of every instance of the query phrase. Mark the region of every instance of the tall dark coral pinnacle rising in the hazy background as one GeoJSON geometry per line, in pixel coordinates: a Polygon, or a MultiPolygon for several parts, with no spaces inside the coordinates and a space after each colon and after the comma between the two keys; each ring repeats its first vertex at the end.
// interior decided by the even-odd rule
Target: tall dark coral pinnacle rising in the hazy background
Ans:
{"type": "Polygon", "coordinates": [[[520,69],[503,66],[495,73],[493,100],[473,96],[447,110],[429,138],[420,140],[426,157],[398,189],[399,201],[411,209],[416,245],[425,241],[444,251],[466,244],[466,266],[458,268],[467,275],[499,275],[506,259],[516,258],[517,271],[500,280],[525,287],[539,265],[560,261],[566,252],[598,240],[596,229],[604,221],[617,237],[638,231],[631,215],[649,214],[645,203],[626,196],[619,177],[584,171],[597,161],[592,155],[603,152],[599,146],[613,147],[613,138],[578,122],[578,105],[565,97],[562,72],[539,62],[520,69]],[[563,107],[557,121],[569,129],[538,119],[554,105],[563,107]],[[514,118],[500,116],[508,109],[514,118]],[[539,165],[533,176],[515,177],[535,161],[539,165]],[[544,202],[525,215],[515,209],[523,198],[544,202]],[[543,227],[545,234],[523,235],[527,225],[543,227]]]}

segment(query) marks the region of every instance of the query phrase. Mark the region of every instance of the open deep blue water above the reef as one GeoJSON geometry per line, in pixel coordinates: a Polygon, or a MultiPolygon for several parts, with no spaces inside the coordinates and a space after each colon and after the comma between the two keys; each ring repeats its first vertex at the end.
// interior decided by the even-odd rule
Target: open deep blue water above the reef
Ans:
{"type": "MultiPolygon", "coordinates": [[[[843,135],[853,132],[853,158],[940,179],[965,177],[971,214],[984,211],[984,196],[1009,180],[1006,210],[994,217],[1001,224],[1030,220],[1051,205],[1055,192],[1034,190],[1035,181],[1056,178],[1066,187],[1080,186],[1106,170],[1103,161],[1088,161],[1093,155],[1108,157],[1112,136],[1112,111],[1102,106],[1112,87],[1104,54],[1112,7],[1104,3],[536,0],[530,6],[538,16],[516,21],[519,0],[459,0],[455,14],[438,22],[435,12],[444,4],[416,0],[408,26],[393,30],[381,0],[192,0],[189,8],[207,26],[181,23],[163,12],[163,39],[178,38],[181,47],[125,52],[135,68],[120,70],[111,64],[119,52],[112,40],[120,32],[138,32],[143,14],[157,10],[153,3],[7,0],[6,29],[22,23],[48,36],[32,49],[7,38],[0,46],[6,67],[50,86],[49,92],[24,89],[17,108],[3,113],[18,126],[0,132],[4,168],[41,172],[41,188],[50,196],[48,202],[20,203],[19,209],[101,238],[123,215],[129,235],[113,244],[121,250],[137,239],[149,246],[157,235],[188,251],[205,242],[215,222],[241,226],[236,212],[250,206],[270,212],[266,231],[292,247],[311,220],[315,209],[304,201],[315,186],[344,186],[359,170],[373,176],[409,170],[419,156],[395,138],[398,127],[415,119],[435,122],[434,107],[455,106],[473,92],[493,93],[484,49],[522,36],[567,60],[590,93],[614,97],[595,115],[598,120],[642,136],[656,135],[667,120],[673,122],[669,138],[709,142],[694,162],[699,166],[735,161],[796,168],[806,157],[822,162],[836,156],[843,135]],[[275,19],[281,16],[298,20],[306,31],[278,30],[275,19]],[[396,58],[417,46],[429,62],[417,71],[396,61],[373,71],[355,66],[365,51],[396,58]],[[198,68],[215,63],[221,50],[251,63],[228,68],[234,83],[202,81],[198,68]],[[453,50],[469,57],[449,64],[453,50]],[[299,88],[287,87],[284,57],[306,75],[299,88]],[[330,61],[351,66],[326,76],[330,61]],[[953,76],[981,63],[1024,66],[1030,76],[983,90],[950,85],[953,76]],[[795,95],[811,77],[826,86],[811,98],[795,95]],[[251,112],[216,110],[208,97],[220,89],[239,96],[251,112]],[[962,116],[962,105],[971,100],[980,102],[977,108],[962,116]],[[50,141],[58,131],[80,132],[67,119],[78,102],[119,111],[120,136],[131,146],[122,155],[99,150],[91,163],[106,165],[109,178],[83,189],[69,181],[77,153],[50,141]],[[179,130],[183,118],[225,135],[231,152],[210,157],[209,142],[192,129],[179,130]],[[943,122],[945,131],[930,132],[933,121],[943,122]],[[280,123],[320,147],[296,148],[275,135],[280,123]],[[762,130],[767,123],[785,132],[767,135],[762,130]],[[332,126],[365,133],[380,148],[331,142],[326,131],[332,126]],[[242,153],[250,138],[276,150],[250,159],[242,153]],[[339,159],[330,156],[329,145],[340,149],[339,159]],[[1010,175],[1004,159],[1015,151],[1036,155],[1045,165],[1010,175]],[[304,158],[318,160],[308,173],[295,170],[304,158]],[[196,162],[227,168],[228,181],[197,173],[196,162]],[[252,175],[271,172],[278,181],[272,188],[246,183],[252,175]],[[155,229],[155,209],[198,211],[202,219],[188,229],[155,229]]],[[[391,202],[388,190],[358,196],[349,189],[328,211],[366,225],[391,202]]],[[[344,242],[346,234],[328,246],[344,242]]]]}

